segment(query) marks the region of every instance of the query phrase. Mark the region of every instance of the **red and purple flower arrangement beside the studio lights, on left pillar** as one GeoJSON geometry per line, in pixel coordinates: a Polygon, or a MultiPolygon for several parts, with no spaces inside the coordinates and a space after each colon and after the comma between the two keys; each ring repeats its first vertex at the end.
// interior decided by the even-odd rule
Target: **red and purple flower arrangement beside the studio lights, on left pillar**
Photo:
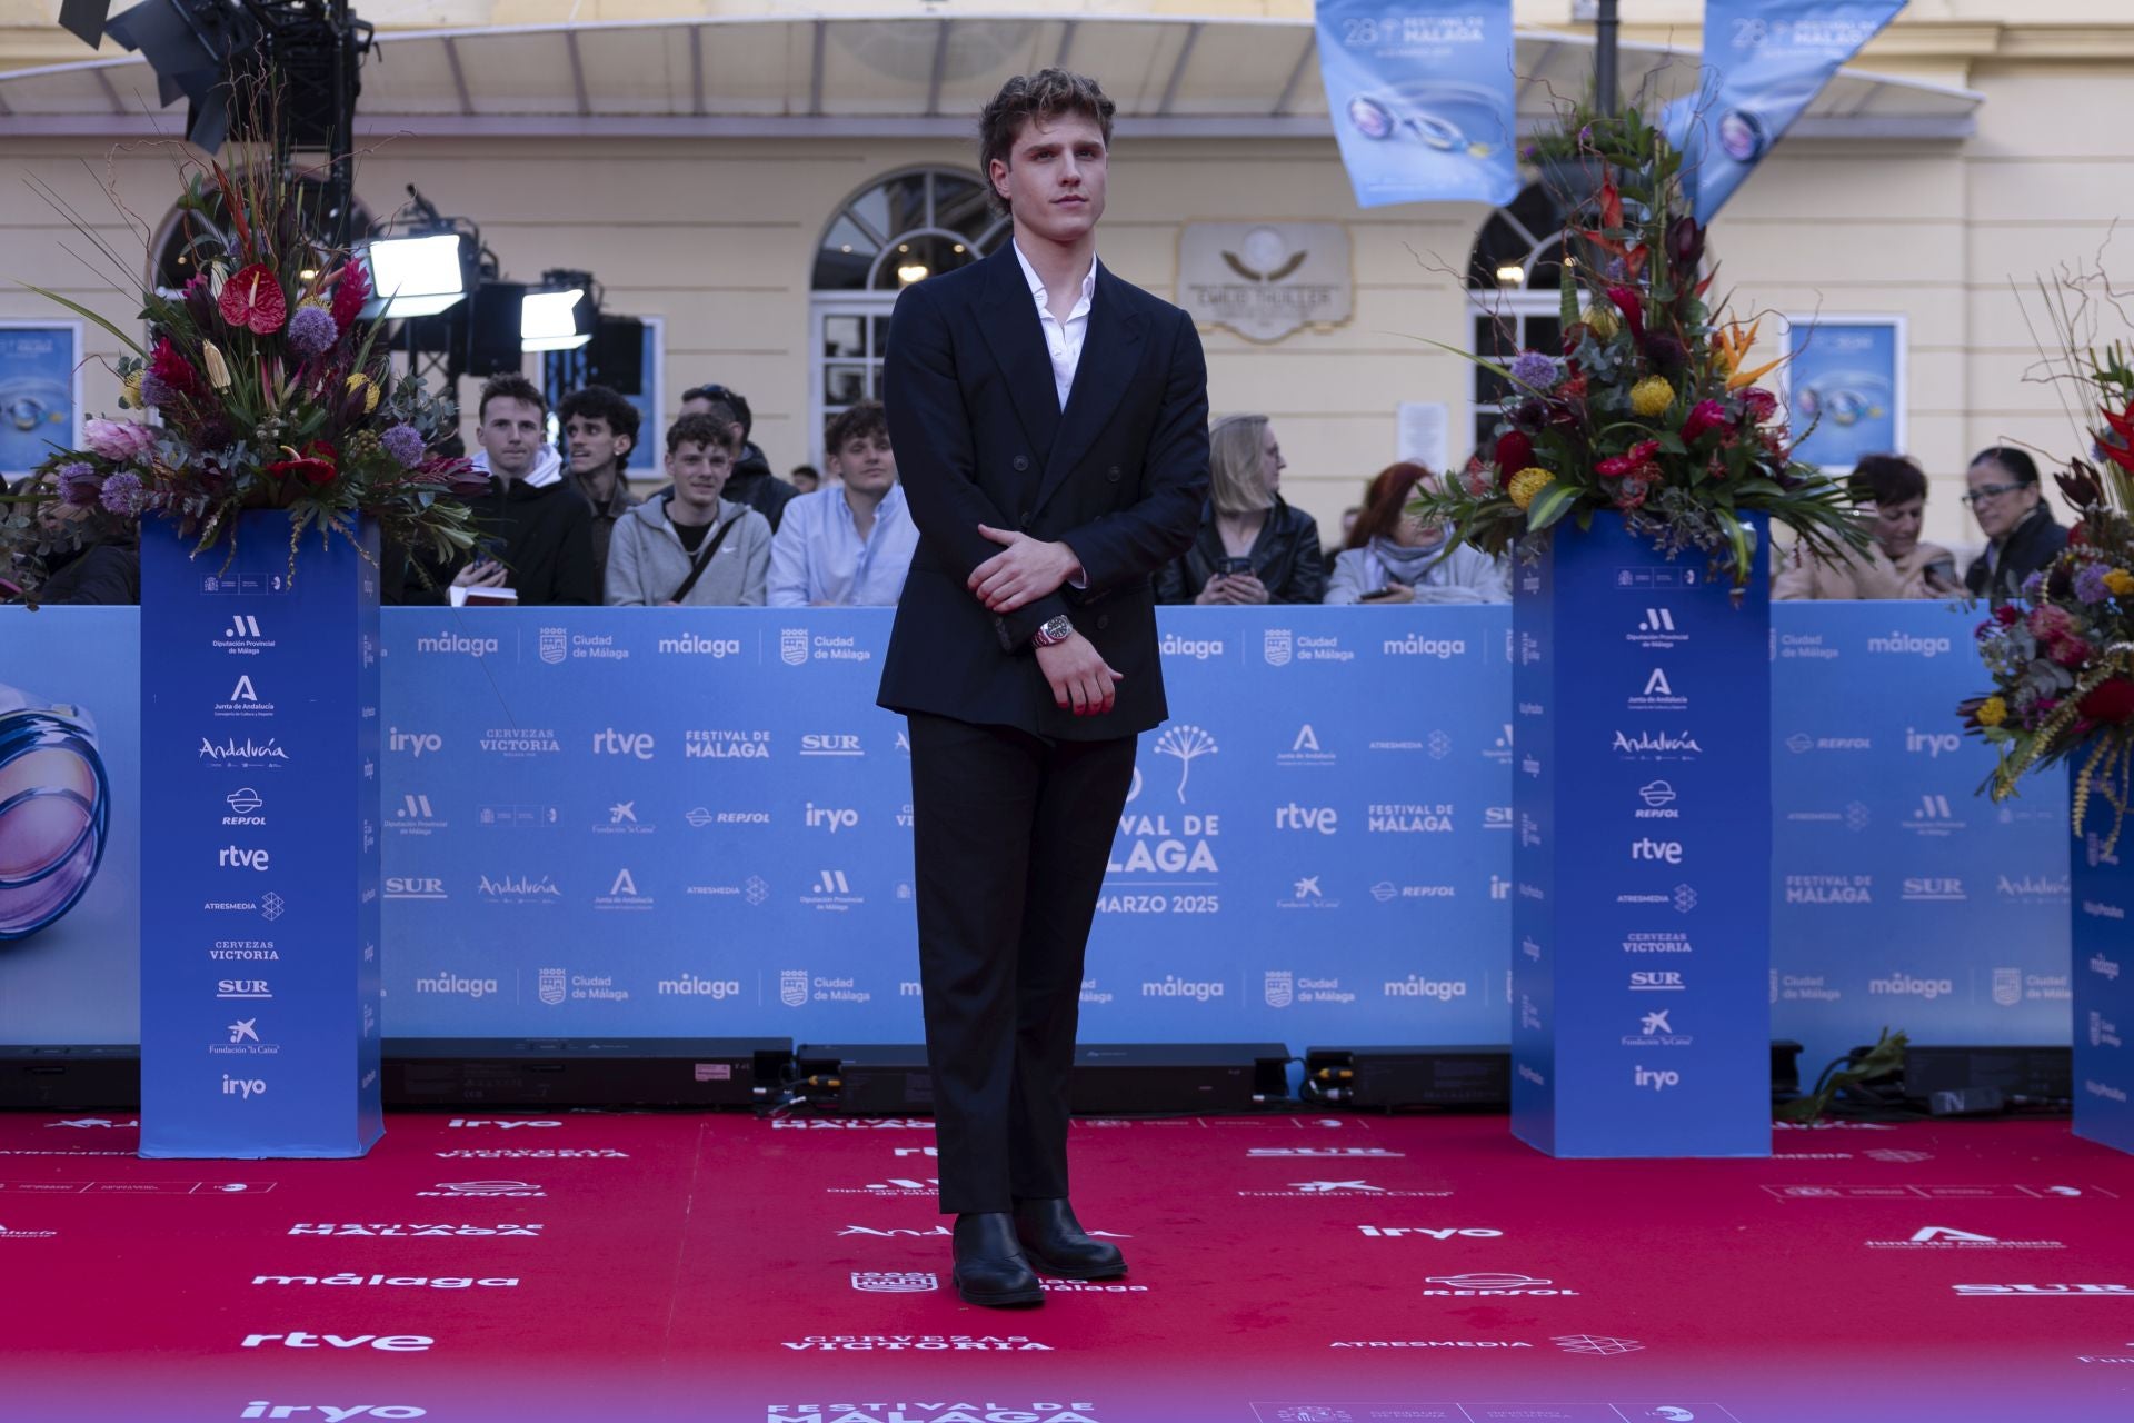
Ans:
{"type": "MultiPolygon", "coordinates": [[[[192,171],[179,207],[201,228],[196,275],[184,290],[141,292],[145,343],[30,288],[130,352],[115,369],[128,414],[87,420],[85,448],[51,454],[17,503],[66,506],[105,531],[166,518],[196,553],[233,546],[243,510],[288,510],[290,578],[305,529],[354,544],[365,516],[437,561],[474,544],[465,497],[484,480],[435,452],[457,425],[455,407],[420,380],[393,378],[378,329],[361,316],[369,275],[350,254],[318,245],[307,201],[273,164],[192,171]]],[[[64,538],[79,542],[77,518],[17,510],[0,521],[0,567],[21,553],[49,555],[64,538]]]]}

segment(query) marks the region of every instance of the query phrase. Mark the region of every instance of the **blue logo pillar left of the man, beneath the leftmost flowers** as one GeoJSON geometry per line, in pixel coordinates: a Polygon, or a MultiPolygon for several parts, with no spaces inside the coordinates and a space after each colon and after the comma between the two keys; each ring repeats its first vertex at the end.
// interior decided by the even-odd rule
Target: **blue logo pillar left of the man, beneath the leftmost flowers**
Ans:
{"type": "Polygon", "coordinates": [[[141,538],[141,1154],[384,1133],[378,531],[141,538]],[[290,576],[290,555],[297,574],[290,576]]]}

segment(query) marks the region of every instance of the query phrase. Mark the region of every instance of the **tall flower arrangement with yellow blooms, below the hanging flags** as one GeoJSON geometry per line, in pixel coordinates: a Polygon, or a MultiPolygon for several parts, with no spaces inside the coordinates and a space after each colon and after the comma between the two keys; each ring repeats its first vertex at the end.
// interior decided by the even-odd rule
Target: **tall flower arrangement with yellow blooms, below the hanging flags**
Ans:
{"type": "Polygon", "coordinates": [[[1417,510],[1494,555],[1615,510],[1669,555],[1703,550],[1737,591],[1754,567],[1746,514],[1788,525],[1818,557],[1865,548],[1846,489],[1790,454],[1778,397],[1756,384],[1778,363],[1748,365],[1756,326],[1705,303],[1705,228],[1682,194],[1682,156],[1635,109],[1581,124],[1575,149],[1600,181],[1571,220],[1562,350],[1509,365],[1458,352],[1511,386],[1504,418],[1417,510]]]}

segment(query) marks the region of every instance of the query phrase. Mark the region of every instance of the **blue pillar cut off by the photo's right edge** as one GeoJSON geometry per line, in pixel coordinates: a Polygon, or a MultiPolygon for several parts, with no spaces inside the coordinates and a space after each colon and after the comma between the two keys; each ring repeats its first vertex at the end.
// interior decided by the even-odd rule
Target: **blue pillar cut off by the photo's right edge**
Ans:
{"type": "MultiPolygon", "coordinates": [[[[2087,753],[2070,757],[2081,766],[2087,753]]],[[[2072,774],[2072,772],[2070,772],[2072,774]]],[[[2074,845],[2068,898],[2074,909],[2074,1135],[2134,1152],[2134,979],[2128,979],[2128,932],[2134,920],[2134,853],[2125,834],[2111,849],[2096,821],[2111,815],[2089,796],[2089,830],[2074,845]]]]}

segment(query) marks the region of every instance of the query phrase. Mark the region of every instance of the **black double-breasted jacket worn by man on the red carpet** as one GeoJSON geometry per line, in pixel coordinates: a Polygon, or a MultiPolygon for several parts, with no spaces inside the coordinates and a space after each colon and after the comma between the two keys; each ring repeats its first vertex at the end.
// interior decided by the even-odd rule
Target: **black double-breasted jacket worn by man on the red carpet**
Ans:
{"type": "Polygon", "coordinates": [[[1208,367],[1193,318],[1097,265],[1067,410],[1014,243],[907,286],[890,318],[883,405],[920,529],[881,668],[881,706],[1110,740],[1167,715],[1152,576],[1184,553],[1208,497],[1208,367]],[[1084,587],[994,617],[971,570],[977,531],[1065,542],[1084,587]],[[1052,702],[1031,634],[1067,614],[1122,674],[1101,717],[1052,702]]]}

